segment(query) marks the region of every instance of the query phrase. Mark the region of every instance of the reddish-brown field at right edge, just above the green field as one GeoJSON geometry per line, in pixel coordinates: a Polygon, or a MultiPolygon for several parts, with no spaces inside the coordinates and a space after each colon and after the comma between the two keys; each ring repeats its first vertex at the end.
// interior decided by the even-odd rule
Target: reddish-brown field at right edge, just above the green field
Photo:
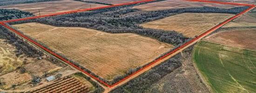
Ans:
{"type": "Polygon", "coordinates": [[[256,50],[256,29],[239,29],[215,33],[205,38],[232,47],[256,50]]]}

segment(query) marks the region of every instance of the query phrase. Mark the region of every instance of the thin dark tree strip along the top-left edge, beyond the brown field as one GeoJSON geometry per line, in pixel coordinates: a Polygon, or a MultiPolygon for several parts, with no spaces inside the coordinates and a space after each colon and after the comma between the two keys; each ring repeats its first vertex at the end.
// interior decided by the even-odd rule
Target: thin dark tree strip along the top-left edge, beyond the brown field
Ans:
{"type": "Polygon", "coordinates": [[[44,2],[44,1],[54,1],[54,0],[0,0],[0,6],[44,2]]]}

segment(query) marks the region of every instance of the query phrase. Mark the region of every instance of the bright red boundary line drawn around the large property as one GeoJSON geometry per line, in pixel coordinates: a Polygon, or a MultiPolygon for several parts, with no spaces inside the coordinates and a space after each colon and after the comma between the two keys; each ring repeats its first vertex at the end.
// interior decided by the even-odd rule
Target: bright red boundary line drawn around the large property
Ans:
{"type": "Polygon", "coordinates": [[[117,5],[112,5],[112,6],[105,6],[105,7],[95,7],[95,8],[87,8],[87,9],[80,9],[80,10],[74,10],[74,11],[69,11],[69,12],[61,12],[61,13],[54,13],[54,14],[47,14],[47,15],[42,15],[42,16],[34,16],[34,17],[27,17],[27,18],[22,18],[22,19],[15,19],[15,20],[7,20],[7,21],[1,21],[0,24],[3,25],[4,27],[8,28],[9,30],[13,31],[14,33],[20,35],[22,38],[30,41],[31,43],[33,43],[36,46],[39,46],[41,49],[45,50],[46,52],[54,55],[55,57],[59,58],[60,60],[66,62],[67,64],[75,67],[76,69],[78,69],[79,71],[89,75],[91,78],[94,78],[95,80],[101,82],[102,84],[104,84],[105,86],[108,87],[114,87],[116,85],[118,85],[119,83],[121,83],[124,80],[127,80],[129,77],[135,75],[136,73],[139,73],[141,70],[155,64],[156,62],[166,58],[168,55],[177,52],[178,50],[180,50],[181,48],[184,48],[185,46],[193,43],[195,40],[198,40],[200,38],[202,38],[204,35],[209,34],[213,31],[215,31],[216,29],[222,27],[223,25],[227,24],[229,21],[236,19],[237,17],[239,17],[240,15],[248,12],[249,10],[253,9],[254,7],[256,7],[255,5],[249,5],[249,4],[241,4],[241,3],[230,3],[230,2],[218,2],[218,1],[207,1],[207,0],[187,0],[187,1],[199,1],[199,2],[208,2],[208,3],[217,3],[217,4],[229,4],[229,5],[237,5],[237,6],[249,6],[248,9],[244,10],[241,13],[236,14],[235,16],[229,18],[228,20],[225,20],[224,22],[222,22],[221,24],[209,29],[208,31],[206,31],[205,33],[202,33],[201,35],[199,35],[198,37],[194,38],[193,40],[190,40],[188,42],[186,42],[185,44],[183,44],[182,46],[179,46],[178,48],[176,48],[175,50],[171,51],[170,53],[165,54],[164,56],[162,56],[161,58],[155,60],[154,62],[151,62],[150,64],[148,64],[147,66],[144,66],[143,68],[139,69],[138,71],[136,71],[135,73],[132,73],[131,75],[123,78],[122,80],[116,82],[113,85],[109,85],[106,82],[100,80],[99,78],[94,77],[93,75],[91,75],[90,73],[82,70],[80,67],[75,66],[73,63],[69,62],[68,60],[65,60],[64,58],[62,58],[61,56],[59,56],[58,54],[50,51],[49,49],[47,49],[46,47],[40,45],[39,43],[35,42],[34,40],[29,39],[27,36],[23,35],[22,33],[16,31],[15,29],[13,29],[12,27],[7,26],[5,23],[6,22],[14,22],[14,21],[20,21],[20,20],[29,20],[29,19],[36,19],[36,18],[42,18],[42,17],[48,17],[48,16],[55,16],[55,15],[61,15],[61,14],[68,14],[68,13],[77,13],[77,12],[84,12],[84,11],[90,11],[90,10],[97,10],[97,9],[103,9],[103,8],[109,8],[109,7],[117,7],[117,6],[124,6],[124,5],[131,5],[131,4],[137,4],[137,3],[142,3],[142,2],[148,2],[148,1],[154,1],[154,0],[142,0],[142,1],[136,1],[136,2],[130,2],[130,3],[124,3],[124,4],[117,4],[117,5]]]}

